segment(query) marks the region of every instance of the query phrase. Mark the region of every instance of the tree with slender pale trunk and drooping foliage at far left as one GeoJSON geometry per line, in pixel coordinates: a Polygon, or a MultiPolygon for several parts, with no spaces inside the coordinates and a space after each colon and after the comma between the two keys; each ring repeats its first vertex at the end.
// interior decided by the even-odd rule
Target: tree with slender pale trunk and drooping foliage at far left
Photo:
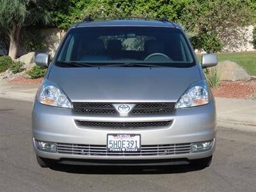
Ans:
{"type": "Polygon", "coordinates": [[[20,30],[38,22],[49,24],[49,8],[54,0],[0,0],[0,27],[10,38],[9,56],[14,59],[20,38],[20,30]]]}

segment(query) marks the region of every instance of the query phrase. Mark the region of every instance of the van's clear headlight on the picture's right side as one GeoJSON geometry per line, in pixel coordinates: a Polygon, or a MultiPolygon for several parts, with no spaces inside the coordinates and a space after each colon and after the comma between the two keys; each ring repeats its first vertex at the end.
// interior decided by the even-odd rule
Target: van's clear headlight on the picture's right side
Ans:
{"type": "Polygon", "coordinates": [[[202,106],[209,103],[210,99],[211,92],[209,92],[209,88],[205,80],[198,81],[191,84],[188,90],[183,93],[182,97],[180,97],[179,101],[177,102],[177,108],[202,106]]]}

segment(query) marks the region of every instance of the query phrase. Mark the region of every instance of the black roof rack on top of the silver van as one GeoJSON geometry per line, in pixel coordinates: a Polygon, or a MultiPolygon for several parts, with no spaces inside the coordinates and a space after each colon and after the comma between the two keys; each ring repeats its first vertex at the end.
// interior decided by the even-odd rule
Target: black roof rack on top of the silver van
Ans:
{"type": "Polygon", "coordinates": [[[84,18],[84,22],[91,22],[93,20],[120,20],[120,19],[141,19],[141,20],[157,20],[157,21],[162,21],[162,22],[170,22],[168,20],[167,17],[163,17],[162,19],[156,19],[156,18],[153,18],[153,17],[91,17],[91,16],[86,16],[84,18]]]}

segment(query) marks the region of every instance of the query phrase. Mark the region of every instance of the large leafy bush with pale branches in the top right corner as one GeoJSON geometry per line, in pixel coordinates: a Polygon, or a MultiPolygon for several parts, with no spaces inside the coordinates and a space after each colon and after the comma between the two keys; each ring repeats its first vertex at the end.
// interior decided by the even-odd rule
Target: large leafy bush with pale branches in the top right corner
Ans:
{"type": "Polygon", "coordinates": [[[205,42],[197,38],[199,47],[195,48],[209,50],[216,45],[214,50],[217,51],[220,41],[224,46],[235,47],[237,40],[243,40],[243,27],[255,22],[255,4],[250,0],[197,0],[188,4],[181,20],[200,29],[199,40],[205,42]]]}

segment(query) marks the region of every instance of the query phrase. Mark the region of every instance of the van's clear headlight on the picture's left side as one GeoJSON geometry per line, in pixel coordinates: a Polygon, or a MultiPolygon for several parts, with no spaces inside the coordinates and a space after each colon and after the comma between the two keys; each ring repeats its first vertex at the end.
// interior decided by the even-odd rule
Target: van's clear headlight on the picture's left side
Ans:
{"type": "Polygon", "coordinates": [[[71,102],[63,90],[61,90],[60,86],[47,79],[42,83],[37,99],[38,102],[47,106],[71,108],[71,102]]]}

